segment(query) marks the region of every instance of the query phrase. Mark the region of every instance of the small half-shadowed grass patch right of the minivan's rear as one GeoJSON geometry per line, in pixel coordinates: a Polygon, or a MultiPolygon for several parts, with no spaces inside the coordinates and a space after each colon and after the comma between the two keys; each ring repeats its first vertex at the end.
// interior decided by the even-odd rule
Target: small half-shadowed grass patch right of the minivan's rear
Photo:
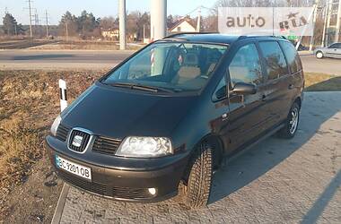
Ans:
{"type": "Polygon", "coordinates": [[[326,73],[305,73],[306,91],[341,91],[341,76],[326,73]]]}

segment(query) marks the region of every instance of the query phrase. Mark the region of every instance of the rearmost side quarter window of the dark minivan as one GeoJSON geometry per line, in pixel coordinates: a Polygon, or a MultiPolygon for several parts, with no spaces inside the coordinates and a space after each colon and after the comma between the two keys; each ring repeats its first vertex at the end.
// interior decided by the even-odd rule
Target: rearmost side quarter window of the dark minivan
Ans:
{"type": "Polygon", "coordinates": [[[286,61],[288,62],[291,72],[296,73],[302,70],[302,62],[300,56],[297,54],[297,51],[295,47],[293,47],[293,44],[286,41],[280,41],[279,43],[284,51],[284,55],[286,57],[286,61]]]}

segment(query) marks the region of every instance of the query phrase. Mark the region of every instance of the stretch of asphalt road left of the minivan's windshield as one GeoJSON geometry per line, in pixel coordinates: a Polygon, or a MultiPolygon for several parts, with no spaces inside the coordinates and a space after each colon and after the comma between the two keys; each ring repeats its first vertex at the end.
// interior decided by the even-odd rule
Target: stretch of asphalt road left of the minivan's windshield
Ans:
{"type": "Polygon", "coordinates": [[[109,50],[3,50],[0,70],[108,69],[135,51],[109,50]]]}

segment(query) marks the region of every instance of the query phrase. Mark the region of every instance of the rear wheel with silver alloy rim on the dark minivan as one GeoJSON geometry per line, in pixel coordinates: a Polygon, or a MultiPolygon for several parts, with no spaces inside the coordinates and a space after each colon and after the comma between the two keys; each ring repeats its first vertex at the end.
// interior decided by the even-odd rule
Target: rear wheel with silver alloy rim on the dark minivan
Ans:
{"type": "Polygon", "coordinates": [[[293,103],[292,108],[289,111],[284,127],[278,131],[280,138],[291,139],[296,134],[298,124],[300,122],[300,105],[297,102],[293,103]]]}

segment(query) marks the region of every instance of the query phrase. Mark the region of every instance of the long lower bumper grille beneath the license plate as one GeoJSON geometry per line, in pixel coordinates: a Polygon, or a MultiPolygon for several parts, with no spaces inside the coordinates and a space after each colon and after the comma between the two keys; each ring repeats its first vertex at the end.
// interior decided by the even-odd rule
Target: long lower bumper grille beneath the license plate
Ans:
{"type": "Polygon", "coordinates": [[[76,177],[65,171],[58,170],[58,177],[61,177],[66,182],[71,185],[82,188],[83,190],[101,194],[104,196],[108,196],[111,198],[118,199],[127,199],[127,200],[136,200],[136,199],[150,199],[153,198],[153,195],[148,193],[146,188],[129,188],[129,187],[119,187],[119,186],[110,186],[110,185],[102,185],[95,182],[90,182],[82,177],[76,177]]]}

